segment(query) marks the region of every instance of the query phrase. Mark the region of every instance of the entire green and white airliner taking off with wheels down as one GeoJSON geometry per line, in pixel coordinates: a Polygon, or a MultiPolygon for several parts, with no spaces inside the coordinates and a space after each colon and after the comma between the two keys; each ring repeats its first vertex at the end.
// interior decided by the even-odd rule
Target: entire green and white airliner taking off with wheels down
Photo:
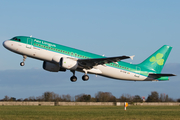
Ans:
{"type": "Polygon", "coordinates": [[[117,80],[128,81],[167,81],[174,74],[163,74],[161,70],[172,49],[164,45],[140,64],[123,62],[134,56],[105,57],[64,45],[55,44],[32,36],[16,36],[3,42],[3,46],[23,56],[21,66],[27,57],[43,61],[43,69],[50,72],[70,70],[72,82],[77,81],[75,71],[83,72],[82,80],[89,79],[88,74],[100,75],[117,80]]]}

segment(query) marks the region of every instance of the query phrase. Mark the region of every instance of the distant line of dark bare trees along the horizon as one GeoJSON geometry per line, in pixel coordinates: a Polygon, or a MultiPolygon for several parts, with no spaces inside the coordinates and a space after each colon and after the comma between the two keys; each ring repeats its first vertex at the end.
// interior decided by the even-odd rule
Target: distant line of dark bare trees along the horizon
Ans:
{"type": "MultiPolygon", "coordinates": [[[[119,98],[112,95],[110,92],[98,92],[95,97],[88,94],[79,94],[75,97],[71,95],[59,95],[54,92],[44,92],[42,96],[34,97],[30,96],[25,99],[16,99],[14,97],[5,96],[0,101],[48,101],[48,102],[143,102],[142,97],[139,95],[131,96],[129,94],[122,94],[119,98]]],[[[180,98],[175,100],[169,98],[166,94],[160,94],[156,91],[151,92],[148,95],[146,102],[180,102],[180,98]]]]}

